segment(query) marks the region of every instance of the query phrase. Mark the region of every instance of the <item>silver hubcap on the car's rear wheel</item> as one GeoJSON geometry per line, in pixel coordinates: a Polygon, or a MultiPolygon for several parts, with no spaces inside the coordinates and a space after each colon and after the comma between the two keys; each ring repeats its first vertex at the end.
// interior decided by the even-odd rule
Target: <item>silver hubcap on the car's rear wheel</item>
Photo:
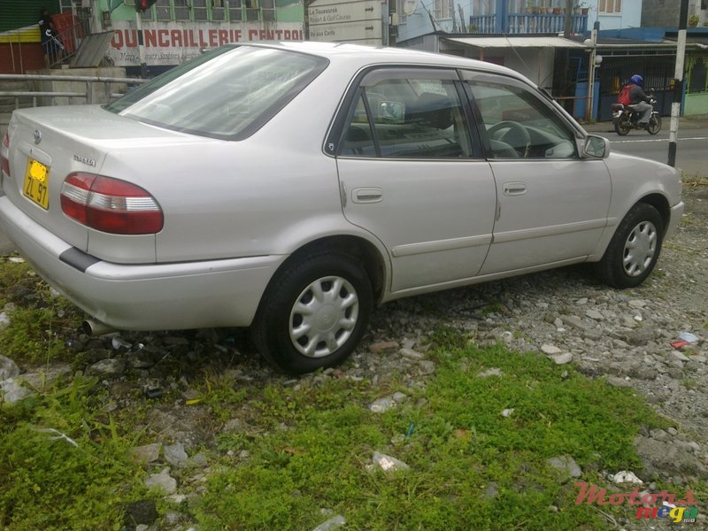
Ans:
{"type": "Polygon", "coordinates": [[[338,350],[357,326],[359,300],[349,281],[338,276],[318,279],[297,297],[290,312],[290,341],[308,358],[338,350]]]}

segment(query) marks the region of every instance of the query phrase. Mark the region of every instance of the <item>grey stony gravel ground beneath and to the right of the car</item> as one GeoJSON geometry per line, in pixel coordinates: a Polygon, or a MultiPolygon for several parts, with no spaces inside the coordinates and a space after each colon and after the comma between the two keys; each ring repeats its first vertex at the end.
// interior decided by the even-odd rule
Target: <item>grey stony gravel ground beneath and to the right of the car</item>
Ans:
{"type": "MultiPolygon", "coordinates": [[[[364,342],[342,367],[303,378],[368,378],[375,385],[396,369],[412,384],[423,381],[435,372],[425,354],[431,331],[454,327],[480,344],[502,341],[513,350],[542,350],[558,364],[573,361],[591,377],[606,376],[612,385],[637,389],[674,424],[667,432],[638,437],[642,474],[679,484],[695,477],[708,480],[708,187],[687,186],[684,201],[681,227],[665,242],[655,273],[639,288],[608,289],[596,281],[591,266],[581,265],[395,301],[374,312],[364,342]],[[672,342],[681,333],[696,335],[696,341],[675,348],[672,342]]],[[[240,332],[133,333],[72,341],[85,352],[86,371],[101,376],[110,389],[106,412],[134,405],[136,389],[172,389],[189,398],[191,385],[203,381],[205,372],[228,371],[235,381],[297,383],[266,366],[240,332]]],[[[31,367],[21,368],[25,378],[36,378],[31,367]]],[[[158,442],[179,442],[190,455],[224,429],[208,412],[183,404],[156,404],[148,419],[147,434],[158,442]]],[[[650,491],[655,486],[650,484],[650,491]]],[[[708,528],[706,521],[701,514],[692,528],[708,528]]],[[[655,521],[651,525],[663,528],[655,521]]]]}

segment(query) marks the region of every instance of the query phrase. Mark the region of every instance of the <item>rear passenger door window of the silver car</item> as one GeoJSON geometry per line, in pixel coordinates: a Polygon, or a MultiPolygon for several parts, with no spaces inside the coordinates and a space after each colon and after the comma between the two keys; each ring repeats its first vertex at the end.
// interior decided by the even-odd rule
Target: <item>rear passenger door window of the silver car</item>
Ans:
{"type": "Polygon", "coordinates": [[[362,83],[340,155],[470,157],[469,128],[453,77],[418,74],[375,73],[362,83]]]}

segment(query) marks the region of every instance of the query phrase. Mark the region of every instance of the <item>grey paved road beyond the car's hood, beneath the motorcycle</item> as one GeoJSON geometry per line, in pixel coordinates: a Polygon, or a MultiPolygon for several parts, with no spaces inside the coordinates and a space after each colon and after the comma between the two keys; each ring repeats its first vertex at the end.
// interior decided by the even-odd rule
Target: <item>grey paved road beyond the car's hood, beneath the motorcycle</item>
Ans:
{"type": "MultiPolygon", "coordinates": [[[[592,124],[585,128],[591,133],[607,137],[612,142],[612,150],[666,163],[670,122],[671,119],[665,116],[661,131],[654,136],[646,131],[630,131],[627,136],[620,136],[615,133],[610,122],[592,124]]],[[[676,166],[690,177],[708,177],[708,119],[681,119],[678,137],[676,166]]]]}

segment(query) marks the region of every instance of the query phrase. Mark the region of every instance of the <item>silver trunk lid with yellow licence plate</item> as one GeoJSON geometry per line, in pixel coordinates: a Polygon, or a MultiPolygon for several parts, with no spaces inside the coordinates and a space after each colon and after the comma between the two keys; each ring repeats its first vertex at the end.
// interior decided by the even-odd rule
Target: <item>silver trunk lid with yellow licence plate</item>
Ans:
{"type": "MultiPolygon", "coordinates": [[[[109,235],[62,212],[62,183],[70,173],[101,173],[109,153],[146,145],[194,142],[195,138],[107,112],[97,105],[47,107],[15,112],[10,134],[11,177],[4,191],[12,203],[54,235],[98,258],[154,262],[154,235],[109,235]],[[191,139],[191,140],[190,140],[191,139]],[[130,237],[130,254],[117,255],[115,238],[130,237]]],[[[113,177],[130,181],[131,175],[113,177]]],[[[125,246],[121,246],[125,248],[125,246]]]]}

